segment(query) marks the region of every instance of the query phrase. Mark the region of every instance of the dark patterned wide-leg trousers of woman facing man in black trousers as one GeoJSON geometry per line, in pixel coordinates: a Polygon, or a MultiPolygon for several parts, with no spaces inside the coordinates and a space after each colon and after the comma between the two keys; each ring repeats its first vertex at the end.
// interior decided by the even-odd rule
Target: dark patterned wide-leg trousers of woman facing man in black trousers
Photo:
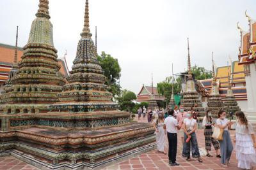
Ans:
{"type": "Polygon", "coordinates": [[[183,144],[183,151],[182,156],[183,157],[190,157],[190,150],[192,152],[193,158],[200,157],[199,149],[198,149],[198,143],[196,139],[196,133],[193,132],[191,135],[191,139],[188,143],[186,143],[186,139],[188,139],[188,136],[184,133],[184,144],[183,144]]]}

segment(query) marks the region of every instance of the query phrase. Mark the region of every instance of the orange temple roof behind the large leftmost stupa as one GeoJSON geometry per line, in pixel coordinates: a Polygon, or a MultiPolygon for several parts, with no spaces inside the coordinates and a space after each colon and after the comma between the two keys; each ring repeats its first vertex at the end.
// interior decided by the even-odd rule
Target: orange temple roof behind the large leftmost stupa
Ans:
{"type": "MultiPolygon", "coordinates": [[[[6,45],[0,43],[0,81],[6,81],[8,78],[8,74],[12,69],[12,64],[14,62],[14,52],[15,46],[6,45]]],[[[17,48],[17,59],[18,62],[21,60],[21,56],[23,55],[23,49],[21,47],[17,48]]],[[[60,64],[60,73],[63,76],[68,75],[68,67],[66,63],[65,57],[62,59],[58,59],[58,64],[60,64]]]]}

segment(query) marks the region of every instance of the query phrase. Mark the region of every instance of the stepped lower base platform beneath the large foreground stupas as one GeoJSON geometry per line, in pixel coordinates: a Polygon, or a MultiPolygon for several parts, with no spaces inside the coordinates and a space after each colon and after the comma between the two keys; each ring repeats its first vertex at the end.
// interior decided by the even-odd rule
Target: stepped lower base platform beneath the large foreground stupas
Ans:
{"type": "Polygon", "coordinates": [[[79,132],[29,128],[0,137],[0,155],[20,155],[40,169],[92,169],[156,145],[154,127],[145,123],[79,132]]]}

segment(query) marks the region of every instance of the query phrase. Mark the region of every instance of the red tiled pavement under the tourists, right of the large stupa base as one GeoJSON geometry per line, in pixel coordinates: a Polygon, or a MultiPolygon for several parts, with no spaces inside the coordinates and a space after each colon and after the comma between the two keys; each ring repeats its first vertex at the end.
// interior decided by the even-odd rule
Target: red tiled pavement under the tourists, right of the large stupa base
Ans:
{"type": "MultiPolygon", "coordinates": [[[[136,117],[135,120],[138,118],[136,117]]],[[[146,122],[146,120],[138,121],[138,122],[146,122]]],[[[119,169],[133,169],[133,170],[167,170],[167,169],[173,169],[173,170],[196,170],[196,169],[230,169],[230,170],[236,170],[237,168],[237,161],[236,161],[236,152],[234,151],[232,153],[232,158],[230,160],[230,167],[228,168],[222,168],[220,166],[220,159],[215,157],[215,151],[212,147],[211,154],[214,155],[214,157],[209,158],[206,157],[205,152],[205,144],[204,144],[204,131],[198,130],[196,132],[196,136],[198,139],[198,145],[200,148],[200,153],[202,155],[203,163],[198,162],[197,159],[192,159],[191,162],[187,162],[182,157],[182,145],[180,138],[178,136],[178,150],[177,150],[177,162],[180,163],[180,166],[178,167],[171,167],[168,164],[168,155],[164,155],[164,153],[159,153],[157,150],[152,150],[147,153],[141,154],[139,157],[135,157],[129,160],[125,160],[123,162],[120,162],[118,164],[114,164],[112,166],[108,166],[104,168],[104,170],[119,170],[119,169]]],[[[234,136],[234,131],[231,131],[231,136],[234,136]]]]}

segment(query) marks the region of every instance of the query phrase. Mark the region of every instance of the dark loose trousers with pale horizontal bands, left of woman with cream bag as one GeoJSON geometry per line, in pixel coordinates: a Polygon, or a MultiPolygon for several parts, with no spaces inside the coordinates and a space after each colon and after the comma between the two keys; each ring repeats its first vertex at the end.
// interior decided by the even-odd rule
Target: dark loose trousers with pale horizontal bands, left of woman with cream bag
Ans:
{"type": "Polygon", "coordinates": [[[212,138],[212,128],[211,129],[204,129],[204,141],[205,141],[205,150],[211,150],[212,145],[215,150],[220,149],[219,142],[212,138]]]}

